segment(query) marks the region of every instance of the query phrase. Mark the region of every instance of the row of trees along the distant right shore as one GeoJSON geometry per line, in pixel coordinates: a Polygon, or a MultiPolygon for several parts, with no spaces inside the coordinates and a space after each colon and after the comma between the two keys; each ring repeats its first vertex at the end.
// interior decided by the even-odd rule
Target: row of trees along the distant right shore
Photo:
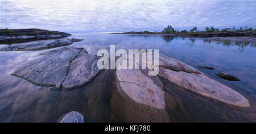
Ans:
{"type": "MultiPolygon", "coordinates": [[[[253,29],[251,27],[240,27],[240,28],[224,28],[224,29],[219,29],[219,28],[214,28],[214,27],[205,27],[205,30],[198,30],[197,27],[193,27],[191,30],[187,31],[187,30],[183,30],[183,31],[179,31],[179,30],[175,30],[171,25],[168,25],[166,28],[164,28],[164,30],[162,32],[156,32],[155,33],[205,33],[205,32],[249,32],[249,31],[255,31],[256,29],[253,29]]],[[[144,32],[140,32],[140,33],[152,33],[150,31],[144,31],[144,32]]]]}

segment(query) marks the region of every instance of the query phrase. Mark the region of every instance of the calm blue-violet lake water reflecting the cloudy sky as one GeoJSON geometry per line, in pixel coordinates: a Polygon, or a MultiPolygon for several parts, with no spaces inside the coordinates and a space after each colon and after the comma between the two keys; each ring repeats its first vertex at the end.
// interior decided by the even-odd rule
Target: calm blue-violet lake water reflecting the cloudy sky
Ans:
{"type": "MultiPolygon", "coordinates": [[[[73,33],[71,37],[85,39],[71,46],[84,47],[94,55],[98,49],[109,49],[111,44],[115,45],[115,49],[159,49],[160,53],[199,69],[210,78],[232,87],[245,96],[252,104],[252,108],[246,111],[250,115],[247,117],[250,120],[240,121],[255,121],[255,43],[223,43],[193,37],[108,33],[73,33]],[[215,69],[200,69],[197,65],[211,66],[215,69]],[[227,72],[241,81],[226,81],[215,76],[214,72],[227,72]]],[[[5,45],[0,45],[3,46],[5,45]]],[[[35,59],[44,51],[48,50],[0,52],[0,122],[56,122],[61,115],[73,110],[84,112],[88,122],[109,122],[112,77],[98,78],[89,85],[72,91],[51,91],[48,87],[37,87],[22,78],[10,75],[20,64],[35,59]]],[[[233,120],[216,118],[214,121],[233,120]]],[[[207,118],[201,122],[207,122],[207,118]]]]}

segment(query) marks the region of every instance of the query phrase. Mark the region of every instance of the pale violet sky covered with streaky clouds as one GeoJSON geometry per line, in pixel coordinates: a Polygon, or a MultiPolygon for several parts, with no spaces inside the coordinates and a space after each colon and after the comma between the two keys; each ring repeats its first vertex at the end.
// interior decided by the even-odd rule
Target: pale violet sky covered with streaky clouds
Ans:
{"type": "Polygon", "coordinates": [[[256,0],[0,0],[0,28],[64,32],[256,28],[256,0]]]}

